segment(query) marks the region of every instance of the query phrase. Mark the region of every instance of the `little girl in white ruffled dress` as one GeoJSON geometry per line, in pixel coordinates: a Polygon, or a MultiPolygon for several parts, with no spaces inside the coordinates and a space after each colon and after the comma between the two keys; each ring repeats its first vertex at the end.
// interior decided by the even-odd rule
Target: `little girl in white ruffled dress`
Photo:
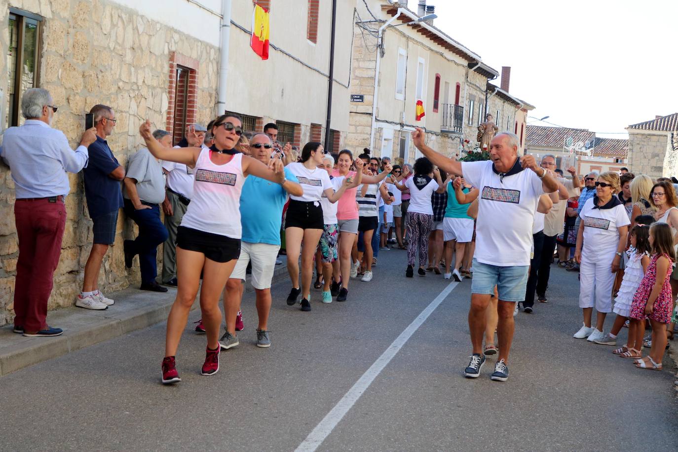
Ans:
{"type": "MultiPolygon", "coordinates": [[[[612,312],[617,316],[610,333],[601,338],[600,341],[594,341],[598,344],[616,345],[616,337],[629,317],[633,295],[635,295],[643,280],[647,266],[650,265],[650,226],[637,224],[633,227],[631,230],[631,247],[626,251],[626,256],[629,261],[625,264],[624,279],[622,279],[622,285],[614,299],[614,308],[612,308],[612,312]]],[[[630,334],[629,337],[631,337],[630,334]]],[[[612,353],[619,354],[624,358],[637,357],[631,351],[628,343],[613,350],[612,353]]]]}

